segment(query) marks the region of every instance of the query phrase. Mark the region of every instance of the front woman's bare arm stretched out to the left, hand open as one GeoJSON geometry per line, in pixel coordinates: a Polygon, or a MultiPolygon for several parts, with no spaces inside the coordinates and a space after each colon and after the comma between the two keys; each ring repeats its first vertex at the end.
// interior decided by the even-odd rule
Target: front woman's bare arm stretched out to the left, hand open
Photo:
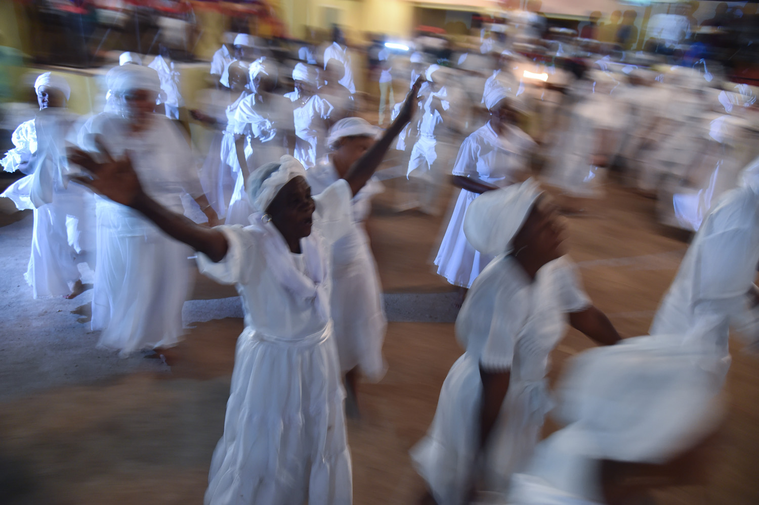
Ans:
{"type": "Polygon", "coordinates": [[[106,157],[105,162],[96,162],[89,153],[81,149],[69,151],[69,160],[92,175],[92,177],[74,177],[72,180],[116,203],[127,205],[142,213],[170,237],[186,243],[196,251],[203,252],[212,261],[219,262],[224,259],[228,243],[221,231],[196,224],[184,215],[171,212],[150,198],[143,191],[129,156],[115,160],[101,140],[96,139],[96,143],[106,157]]]}

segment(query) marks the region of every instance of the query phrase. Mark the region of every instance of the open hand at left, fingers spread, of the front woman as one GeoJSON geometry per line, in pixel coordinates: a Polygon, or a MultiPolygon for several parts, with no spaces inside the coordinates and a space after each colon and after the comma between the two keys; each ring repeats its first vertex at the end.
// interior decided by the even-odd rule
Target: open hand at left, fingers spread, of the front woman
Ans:
{"type": "Polygon", "coordinates": [[[89,152],[84,152],[81,149],[68,149],[68,160],[80,165],[92,176],[80,175],[72,177],[71,180],[90,188],[95,193],[112,199],[116,203],[134,207],[140,196],[144,196],[145,193],[140,180],[137,178],[137,173],[132,167],[131,159],[128,155],[124,155],[118,160],[113,159],[102,143],[100,136],[95,138],[95,143],[106,157],[105,162],[96,162],[89,152]]]}

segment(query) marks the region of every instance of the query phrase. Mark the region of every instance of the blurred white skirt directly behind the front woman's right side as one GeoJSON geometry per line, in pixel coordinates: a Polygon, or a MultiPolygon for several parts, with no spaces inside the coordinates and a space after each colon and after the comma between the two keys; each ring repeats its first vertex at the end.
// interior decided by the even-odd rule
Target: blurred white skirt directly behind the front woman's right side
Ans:
{"type": "Polygon", "coordinates": [[[330,306],[340,369],[348,372],[359,366],[364,377],[378,382],[386,370],[382,347],[387,319],[364,227],[354,226],[334,248],[330,306]]]}

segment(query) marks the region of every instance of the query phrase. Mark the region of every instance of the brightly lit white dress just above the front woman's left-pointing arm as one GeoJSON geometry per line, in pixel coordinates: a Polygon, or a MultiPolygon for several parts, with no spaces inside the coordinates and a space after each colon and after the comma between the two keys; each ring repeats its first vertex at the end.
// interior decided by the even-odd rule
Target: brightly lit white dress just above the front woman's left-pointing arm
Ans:
{"type": "MultiPolygon", "coordinates": [[[[211,143],[206,161],[200,168],[203,193],[216,215],[219,218],[227,218],[227,224],[247,224],[247,216],[250,215],[250,209],[245,207],[247,199],[241,201],[240,198],[241,193],[244,194],[244,180],[241,180],[242,174],[235,144],[236,135],[244,135],[250,131],[250,127],[241,124],[236,119],[237,110],[246,96],[248,96],[247,92],[241,93],[225,108],[224,131],[220,139],[215,139],[211,143]],[[237,202],[235,209],[231,205],[233,199],[237,202]],[[241,221],[241,218],[244,221],[241,221]]],[[[250,155],[250,148],[245,154],[250,155]]]]}

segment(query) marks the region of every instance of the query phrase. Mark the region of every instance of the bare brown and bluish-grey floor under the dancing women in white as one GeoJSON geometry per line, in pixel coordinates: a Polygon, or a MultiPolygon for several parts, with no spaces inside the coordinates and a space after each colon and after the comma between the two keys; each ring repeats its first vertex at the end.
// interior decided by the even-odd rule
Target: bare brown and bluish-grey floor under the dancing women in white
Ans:
{"type": "MultiPolygon", "coordinates": [[[[376,200],[369,223],[391,322],[388,372],[379,384],[362,384],[363,419],[348,425],[357,505],[416,502],[424,485],[408,449],[430,424],[461,354],[454,293],[429,262],[442,218],[392,212],[394,185],[376,200]]],[[[0,504],[200,503],[242,328],[234,290],[197,278],[184,308],[191,328],[172,369],[142,356],[118,359],[95,349],[91,292],[32,299],[23,278],[32,216],[0,219],[0,504]]],[[[571,255],[587,292],[628,337],[647,330],[687,246],[654,222],[653,202],[616,187],[589,217],[569,220],[571,255]]],[[[551,377],[590,346],[570,331],[553,355],[551,377]]],[[[658,503],[759,503],[757,358],[734,351],[729,416],[710,480],[663,490],[658,503]]]]}

